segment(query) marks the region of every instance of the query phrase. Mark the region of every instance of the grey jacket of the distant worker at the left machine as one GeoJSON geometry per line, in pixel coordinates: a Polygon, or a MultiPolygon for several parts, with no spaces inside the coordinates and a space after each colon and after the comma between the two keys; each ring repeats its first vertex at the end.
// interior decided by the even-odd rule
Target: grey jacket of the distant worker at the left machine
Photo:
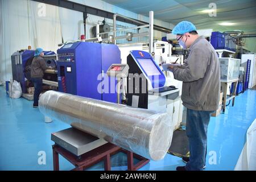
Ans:
{"type": "Polygon", "coordinates": [[[35,56],[31,64],[31,78],[43,78],[46,69],[48,67],[43,57],[35,56]]]}

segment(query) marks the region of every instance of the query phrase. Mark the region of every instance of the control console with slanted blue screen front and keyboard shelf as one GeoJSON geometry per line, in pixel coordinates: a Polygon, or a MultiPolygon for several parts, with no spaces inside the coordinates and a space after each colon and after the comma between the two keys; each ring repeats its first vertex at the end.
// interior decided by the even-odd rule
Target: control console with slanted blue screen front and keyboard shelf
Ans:
{"type": "Polygon", "coordinates": [[[148,52],[130,51],[127,56],[127,105],[167,112],[172,115],[170,100],[179,96],[175,86],[165,86],[166,76],[148,52]]]}

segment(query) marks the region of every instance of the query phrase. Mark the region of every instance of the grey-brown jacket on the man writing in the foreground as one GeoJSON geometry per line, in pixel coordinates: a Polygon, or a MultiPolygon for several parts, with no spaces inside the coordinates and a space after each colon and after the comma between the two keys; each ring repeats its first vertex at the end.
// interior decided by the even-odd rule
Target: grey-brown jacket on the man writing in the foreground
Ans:
{"type": "Polygon", "coordinates": [[[173,69],[183,81],[181,100],[188,109],[217,110],[220,101],[220,64],[212,45],[200,36],[189,48],[188,58],[173,69]]]}

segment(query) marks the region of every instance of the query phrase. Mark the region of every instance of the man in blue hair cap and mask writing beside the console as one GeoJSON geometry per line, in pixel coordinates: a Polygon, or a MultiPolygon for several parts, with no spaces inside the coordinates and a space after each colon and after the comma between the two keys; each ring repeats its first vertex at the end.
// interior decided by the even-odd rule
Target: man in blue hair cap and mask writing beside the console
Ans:
{"type": "Polygon", "coordinates": [[[169,66],[176,80],[183,81],[181,100],[187,107],[186,134],[189,141],[189,158],[186,166],[177,171],[194,171],[205,168],[207,156],[207,129],[210,113],[218,109],[220,99],[220,65],[211,44],[199,36],[191,22],[178,23],[172,30],[177,42],[189,55],[180,66],[169,66]]]}

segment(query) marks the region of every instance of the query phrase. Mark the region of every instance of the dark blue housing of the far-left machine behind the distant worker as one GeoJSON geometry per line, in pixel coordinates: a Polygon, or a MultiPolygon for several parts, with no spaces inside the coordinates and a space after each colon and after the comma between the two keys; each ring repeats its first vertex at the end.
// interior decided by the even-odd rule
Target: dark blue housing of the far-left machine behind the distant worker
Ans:
{"type": "MultiPolygon", "coordinates": [[[[44,55],[55,57],[55,52],[43,51],[44,55]]],[[[26,67],[32,63],[35,50],[16,51],[11,55],[11,67],[13,72],[13,80],[20,82],[22,92],[27,93],[27,80],[30,81],[30,76],[26,74],[26,67]]],[[[55,60],[54,60],[55,61],[55,60]]],[[[51,64],[53,67],[53,65],[51,64]]],[[[30,75],[30,74],[29,74],[30,75]]]]}

